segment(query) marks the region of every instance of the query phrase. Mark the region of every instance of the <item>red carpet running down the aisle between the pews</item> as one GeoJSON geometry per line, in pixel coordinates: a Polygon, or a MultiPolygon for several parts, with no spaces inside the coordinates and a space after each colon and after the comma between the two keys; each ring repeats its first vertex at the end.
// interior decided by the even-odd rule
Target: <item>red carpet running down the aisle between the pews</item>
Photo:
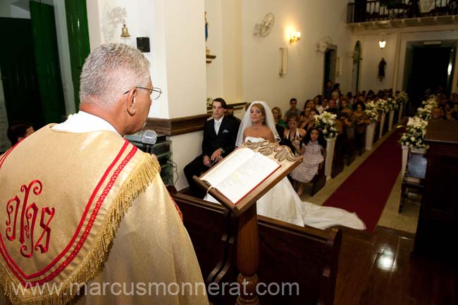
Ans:
{"type": "Polygon", "coordinates": [[[366,224],[366,230],[373,231],[401,170],[402,152],[397,141],[402,132],[404,128],[392,132],[330,195],[323,206],[356,212],[366,224]]]}

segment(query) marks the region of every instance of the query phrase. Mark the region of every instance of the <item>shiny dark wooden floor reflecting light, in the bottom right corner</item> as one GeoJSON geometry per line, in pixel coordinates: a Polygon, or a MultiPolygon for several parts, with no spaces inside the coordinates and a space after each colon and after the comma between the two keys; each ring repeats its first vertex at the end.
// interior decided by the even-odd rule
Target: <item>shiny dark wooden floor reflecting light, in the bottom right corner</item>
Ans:
{"type": "Polygon", "coordinates": [[[408,232],[342,230],[335,305],[458,304],[456,256],[412,259],[408,232]]]}

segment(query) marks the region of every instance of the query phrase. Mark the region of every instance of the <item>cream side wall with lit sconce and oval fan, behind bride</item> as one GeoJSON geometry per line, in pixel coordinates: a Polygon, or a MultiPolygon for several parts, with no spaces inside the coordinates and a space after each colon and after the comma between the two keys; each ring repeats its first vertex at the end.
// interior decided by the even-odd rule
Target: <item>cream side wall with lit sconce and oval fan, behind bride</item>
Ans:
{"type": "Polygon", "coordinates": [[[316,44],[329,36],[338,46],[342,74],[336,78],[342,92],[350,87],[351,58],[348,54],[352,34],[345,25],[345,1],[252,0],[242,6],[242,77],[243,100],[263,100],[270,106],[280,106],[285,111],[291,97],[296,97],[299,107],[306,99],[321,94],[323,88],[323,54],[316,44]],[[268,37],[254,37],[253,29],[266,13],[276,16],[275,25],[268,37]],[[301,40],[289,44],[291,31],[302,33],[301,40]],[[287,75],[278,76],[280,47],[289,49],[287,75]]]}

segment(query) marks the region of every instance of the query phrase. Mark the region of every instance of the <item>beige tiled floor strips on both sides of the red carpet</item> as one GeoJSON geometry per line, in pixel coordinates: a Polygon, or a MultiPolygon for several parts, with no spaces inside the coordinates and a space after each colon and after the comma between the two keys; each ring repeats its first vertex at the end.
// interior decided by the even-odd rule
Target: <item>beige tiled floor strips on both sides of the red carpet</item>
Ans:
{"type": "MultiPolygon", "coordinates": [[[[342,173],[337,175],[333,179],[328,179],[326,181],[325,187],[320,190],[314,197],[310,197],[309,188],[304,189],[304,194],[302,194],[302,200],[309,201],[314,204],[323,204],[330,194],[333,194],[335,189],[337,189],[342,182],[344,182],[347,177],[353,173],[353,171],[364,161],[366,158],[390,135],[388,132],[381,140],[379,140],[371,151],[366,151],[362,156],[358,156],[355,161],[350,166],[345,166],[342,173]]],[[[419,217],[420,211],[420,198],[419,197],[410,197],[409,200],[404,204],[402,213],[397,213],[399,209],[401,197],[401,175],[397,177],[394,187],[391,190],[390,197],[388,197],[387,204],[383,210],[380,220],[378,220],[378,225],[384,227],[393,228],[397,230],[402,230],[406,232],[414,233],[416,232],[416,223],[419,217]]]]}

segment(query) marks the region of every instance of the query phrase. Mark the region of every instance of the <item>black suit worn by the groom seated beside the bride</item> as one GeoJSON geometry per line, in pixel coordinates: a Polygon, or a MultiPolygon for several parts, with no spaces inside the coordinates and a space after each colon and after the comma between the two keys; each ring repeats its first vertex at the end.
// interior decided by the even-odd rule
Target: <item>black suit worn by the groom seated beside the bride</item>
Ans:
{"type": "Polygon", "coordinates": [[[194,158],[194,160],[185,166],[185,176],[187,183],[194,197],[204,198],[205,192],[200,188],[194,180],[193,175],[200,176],[202,173],[209,170],[208,166],[204,166],[204,156],[213,154],[216,149],[223,149],[222,157],[227,156],[235,149],[235,140],[240,123],[233,118],[222,118],[221,125],[218,130],[218,135],[215,132],[215,120],[207,120],[204,124],[204,139],[202,141],[202,155],[194,158]]]}

